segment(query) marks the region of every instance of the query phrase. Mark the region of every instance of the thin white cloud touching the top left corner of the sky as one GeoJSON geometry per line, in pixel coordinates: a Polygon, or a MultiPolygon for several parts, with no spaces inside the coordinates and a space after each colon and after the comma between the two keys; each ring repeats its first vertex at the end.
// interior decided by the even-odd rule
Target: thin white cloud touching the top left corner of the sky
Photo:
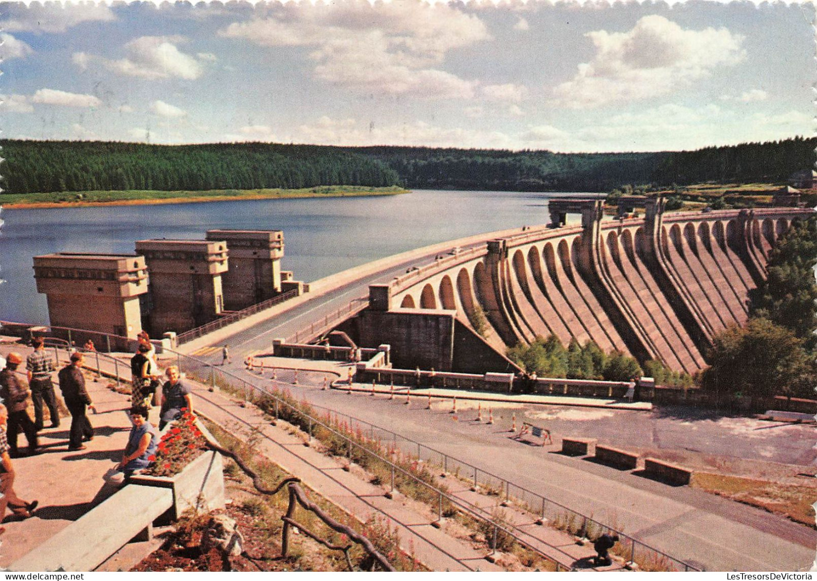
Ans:
{"type": "Polygon", "coordinates": [[[0,28],[7,32],[63,33],[83,22],[116,20],[104,2],[66,3],[7,2],[3,5],[0,28]]]}

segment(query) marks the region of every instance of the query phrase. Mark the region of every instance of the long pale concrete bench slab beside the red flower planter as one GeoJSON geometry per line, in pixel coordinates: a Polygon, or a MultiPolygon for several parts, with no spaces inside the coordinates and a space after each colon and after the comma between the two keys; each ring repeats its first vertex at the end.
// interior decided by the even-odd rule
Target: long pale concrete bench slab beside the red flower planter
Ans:
{"type": "Polygon", "coordinates": [[[131,539],[150,538],[153,521],[172,505],[171,489],[127,485],[11,563],[9,570],[92,571],[131,539]]]}

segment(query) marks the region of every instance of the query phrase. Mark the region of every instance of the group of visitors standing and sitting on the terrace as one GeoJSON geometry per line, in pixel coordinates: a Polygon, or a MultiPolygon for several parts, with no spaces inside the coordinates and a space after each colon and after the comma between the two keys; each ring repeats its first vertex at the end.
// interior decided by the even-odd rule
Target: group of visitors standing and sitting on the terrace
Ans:
{"type": "MultiPolygon", "coordinates": [[[[33,352],[26,358],[26,374],[29,385],[25,387],[18,378],[18,368],[23,363],[23,356],[16,352],[7,355],[5,366],[0,371],[0,521],[7,508],[16,516],[28,518],[37,507],[38,501],[25,502],[15,494],[13,489],[15,471],[12,458],[20,455],[18,447],[19,432],[22,431],[28,443],[28,454],[38,454],[38,431],[44,429],[44,407],[48,409],[51,428],[60,427],[60,412],[57,407],[51,373],[56,370],[54,361],[45,351],[42,337],[33,337],[33,352]],[[27,411],[29,397],[34,408],[34,419],[27,411]]],[[[91,351],[87,349],[86,351],[91,351]]],[[[132,422],[131,433],[123,451],[117,469],[125,474],[126,479],[136,471],[145,469],[150,464],[150,457],[158,445],[158,432],[150,423],[150,408],[158,390],[159,373],[156,363],[156,351],[147,333],[140,333],[136,355],[131,360],[132,398],[128,415],[132,422]]],[[[68,449],[83,450],[83,442],[93,440],[94,429],[87,417],[87,409],[96,408],[88,395],[83,375],[85,356],[82,351],[70,355],[69,364],[60,369],[58,381],[62,391],[65,407],[71,414],[68,449]]],[[[181,417],[182,410],[192,413],[193,405],[190,389],[181,382],[181,374],[176,365],[165,369],[167,381],[162,386],[161,408],[159,411],[158,430],[161,431],[169,422],[181,417]]],[[[4,532],[0,526],[0,534],[4,532]]]]}

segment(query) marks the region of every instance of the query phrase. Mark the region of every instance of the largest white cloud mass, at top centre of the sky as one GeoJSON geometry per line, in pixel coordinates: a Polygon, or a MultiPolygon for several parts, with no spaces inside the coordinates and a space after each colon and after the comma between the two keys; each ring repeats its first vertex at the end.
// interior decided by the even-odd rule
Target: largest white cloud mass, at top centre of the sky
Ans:
{"type": "Polygon", "coordinates": [[[317,78],[364,94],[470,98],[476,83],[437,65],[452,49],[489,38],[479,18],[446,4],[303,2],[270,11],[218,34],[263,47],[309,47],[317,78]]]}

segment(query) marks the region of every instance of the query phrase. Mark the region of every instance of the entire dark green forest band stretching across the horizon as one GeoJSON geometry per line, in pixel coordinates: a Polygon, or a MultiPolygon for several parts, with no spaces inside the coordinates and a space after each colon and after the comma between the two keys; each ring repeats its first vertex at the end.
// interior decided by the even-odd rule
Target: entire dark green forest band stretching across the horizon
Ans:
{"type": "Polygon", "coordinates": [[[0,140],[7,194],[89,190],[252,190],[315,185],[609,191],[625,184],[782,183],[813,168],[817,138],[658,153],[334,147],[270,143],[148,145],[0,140]]]}

